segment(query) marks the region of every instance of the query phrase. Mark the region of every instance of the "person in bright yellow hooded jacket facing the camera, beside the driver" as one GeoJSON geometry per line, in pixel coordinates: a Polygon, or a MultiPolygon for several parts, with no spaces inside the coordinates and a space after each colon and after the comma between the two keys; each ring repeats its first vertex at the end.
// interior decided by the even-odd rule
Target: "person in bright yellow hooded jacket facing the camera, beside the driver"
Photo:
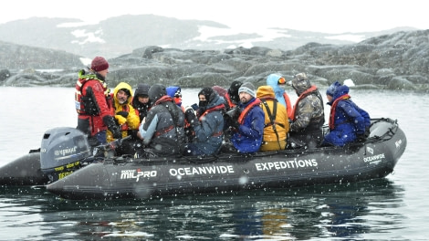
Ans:
{"type": "MultiPolygon", "coordinates": [[[[137,138],[137,131],[139,131],[140,117],[131,105],[132,88],[125,82],[120,82],[111,95],[111,112],[115,117],[117,124],[120,126],[122,138],[131,135],[131,140],[122,142],[122,145],[117,148],[117,154],[133,154],[134,142],[139,140],[137,138]]],[[[107,131],[107,141],[114,141],[113,135],[107,131]]]]}

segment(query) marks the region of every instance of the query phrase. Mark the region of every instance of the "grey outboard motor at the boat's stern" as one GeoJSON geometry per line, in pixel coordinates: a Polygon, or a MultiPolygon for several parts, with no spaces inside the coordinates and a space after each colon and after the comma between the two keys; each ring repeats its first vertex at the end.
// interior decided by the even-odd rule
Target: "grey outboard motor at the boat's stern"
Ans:
{"type": "Polygon", "coordinates": [[[91,156],[87,136],[75,128],[58,127],[43,135],[40,167],[50,182],[75,172],[91,156]]]}

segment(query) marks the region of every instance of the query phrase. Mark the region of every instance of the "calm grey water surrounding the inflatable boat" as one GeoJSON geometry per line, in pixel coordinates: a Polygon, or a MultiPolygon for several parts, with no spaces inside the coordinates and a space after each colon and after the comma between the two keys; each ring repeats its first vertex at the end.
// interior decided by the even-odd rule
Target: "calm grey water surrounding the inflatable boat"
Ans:
{"type": "MultiPolygon", "coordinates": [[[[37,149],[47,129],[76,126],[73,91],[0,88],[0,166],[37,149]]],[[[197,90],[183,92],[186,105],[197,100],[197,90]]],[[[429,96],[374,90],[351,96],[371,117],[398,120],[407,135],[407,150],[384,179],[97,202],[0,187],[0,240],[427,240],[429,96]]]]}

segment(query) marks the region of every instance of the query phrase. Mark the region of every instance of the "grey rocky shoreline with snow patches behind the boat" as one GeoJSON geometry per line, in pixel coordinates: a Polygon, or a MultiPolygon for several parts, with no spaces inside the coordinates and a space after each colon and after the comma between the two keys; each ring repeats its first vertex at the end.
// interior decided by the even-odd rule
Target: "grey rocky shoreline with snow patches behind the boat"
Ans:
{"type": "MultiPolygon", "coordinates": [[[[265,84],[271,73],[286,79],[306,72],[320,87],[351,79],[355,88],[429,90],[429,30],[397,32],[353,45],[309,43],[294,50],[237,47],[194,50],[141,47],[111,58],[108,82],[179,85],[183,88],[227,87],[234,80],[265,84]]],[[[76,64],[61,71],[0,69],[0,85],[74,87],[76,64]]]]}

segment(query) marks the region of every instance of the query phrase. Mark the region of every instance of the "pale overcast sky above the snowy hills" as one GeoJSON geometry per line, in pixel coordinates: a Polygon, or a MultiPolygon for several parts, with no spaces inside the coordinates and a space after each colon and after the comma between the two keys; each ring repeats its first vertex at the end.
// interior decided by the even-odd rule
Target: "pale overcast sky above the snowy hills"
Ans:
{"type": "Polygon", "coordinates": [[[71,17],[97,23],[111,16],[146,14],[212,20],[245,32],[266,27],[332,34],[397,26],[429,29],[424,0],[6,0],[0,24],[32,16],[71,17]]]}

